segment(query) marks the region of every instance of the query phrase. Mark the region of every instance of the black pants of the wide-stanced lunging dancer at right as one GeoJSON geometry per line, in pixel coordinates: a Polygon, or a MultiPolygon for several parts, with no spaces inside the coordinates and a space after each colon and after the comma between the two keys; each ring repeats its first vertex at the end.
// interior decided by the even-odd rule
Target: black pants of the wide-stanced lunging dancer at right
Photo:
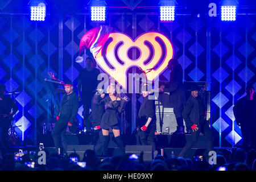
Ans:
{"type": "Polygon", "coordinates": [[[183,150],[179,154],[179,157],[183,157],[184,155],[187,154],[188,150],[190,150],[192,148],[192,146],[197,142],[197,139],[199,138],[201,131],[203,131],[203,133],[207,139],[208,152],[212,151],[214,149],[214,147],[213,147],[214,138],[213,138],[212,130],[210,130],[209,123],[204,122],[204,123],[201,123],[197,127],[199,127],[199,130],[197,130],[197,131],[194,130],[191,132],[191,138],[185,144],[183,150]]]}

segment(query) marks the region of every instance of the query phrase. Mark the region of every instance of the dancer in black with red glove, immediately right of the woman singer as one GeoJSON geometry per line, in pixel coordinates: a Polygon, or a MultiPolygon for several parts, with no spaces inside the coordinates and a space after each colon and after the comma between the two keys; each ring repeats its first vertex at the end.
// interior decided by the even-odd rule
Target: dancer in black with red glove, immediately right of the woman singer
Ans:
{"type": "Polygon", "coordinates": [[[155,130],[156,130],[156,115],[155,115],[155,100],[148,99],[150,92],[143,91],[143,102],[139,108],[138,127],[139,137],[143,145],[151,145],[155,152],[155,130]]]}

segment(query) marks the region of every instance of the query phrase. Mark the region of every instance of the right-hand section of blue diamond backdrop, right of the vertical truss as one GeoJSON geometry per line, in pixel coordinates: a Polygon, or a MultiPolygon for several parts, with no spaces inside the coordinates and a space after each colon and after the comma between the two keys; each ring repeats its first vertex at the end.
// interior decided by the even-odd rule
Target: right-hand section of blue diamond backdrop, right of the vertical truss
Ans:
{"type": "Polygon", "coordinates": [[[233,106],[244,96],[247,84],[255,87],[255,16],[241,15],[236,22],[212,21],[211,115],[219,146],[241,144],[233,106]]]}

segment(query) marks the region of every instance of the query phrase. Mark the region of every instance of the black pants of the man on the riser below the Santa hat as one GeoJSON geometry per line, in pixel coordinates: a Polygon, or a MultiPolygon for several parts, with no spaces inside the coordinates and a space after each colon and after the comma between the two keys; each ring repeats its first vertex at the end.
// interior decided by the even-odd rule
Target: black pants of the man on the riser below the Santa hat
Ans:
{"type": "Polygon", "coordinates": [[[82,107],[84,108],[84,111],[82,111],[82,115],[84,116],[84,122],[82,124],[83,124],[83,127],[86,128],[86,131],[88,131],[92,127],[92,123],[88,120],[88,117],[89,117],[90,105],[92,103],[93,92],[83,94],[81,98],[82,98],[82,107]]]}

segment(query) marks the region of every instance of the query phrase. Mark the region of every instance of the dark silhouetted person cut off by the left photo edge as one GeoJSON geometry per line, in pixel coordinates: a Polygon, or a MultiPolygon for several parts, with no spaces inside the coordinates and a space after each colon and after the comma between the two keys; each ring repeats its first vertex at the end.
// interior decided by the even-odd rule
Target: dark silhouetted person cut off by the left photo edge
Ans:
{"type": "Polygon", "coordinates": [[[10,98],[4,95],[5,85],[0,84],[0,143],[4,147],[4,152],[8,152],[8,130],[14,115],[18,111],[18,106],[10,98]],[[13,112],[11,112],[13,109],[13,112]]]}

